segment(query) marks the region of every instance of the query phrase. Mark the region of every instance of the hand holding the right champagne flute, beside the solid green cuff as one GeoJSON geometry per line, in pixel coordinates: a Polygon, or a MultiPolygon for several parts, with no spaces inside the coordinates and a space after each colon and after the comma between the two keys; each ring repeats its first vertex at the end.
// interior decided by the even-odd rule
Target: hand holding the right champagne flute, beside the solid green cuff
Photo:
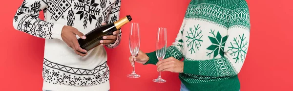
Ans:
{"type": "Polygon", "coordinates": [[[169,57],[157,63],[158,71],[170,71],[175,73],[183,72],[184,62],[177,60],[174,57],[169,57]]]}

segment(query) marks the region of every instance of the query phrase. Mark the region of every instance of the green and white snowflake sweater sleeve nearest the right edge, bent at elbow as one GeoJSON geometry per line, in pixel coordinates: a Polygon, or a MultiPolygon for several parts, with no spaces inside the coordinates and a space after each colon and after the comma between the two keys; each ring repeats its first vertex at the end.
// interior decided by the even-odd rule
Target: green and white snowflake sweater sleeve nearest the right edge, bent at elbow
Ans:
{"type": "Polygon", "coordinates": [[[224,77],[240,72],[249,46],[250,14],[245,0],[238,1],[235,7],[229,16],[228,37],[221,58],[184,61],[184,73],[224,77]]]}

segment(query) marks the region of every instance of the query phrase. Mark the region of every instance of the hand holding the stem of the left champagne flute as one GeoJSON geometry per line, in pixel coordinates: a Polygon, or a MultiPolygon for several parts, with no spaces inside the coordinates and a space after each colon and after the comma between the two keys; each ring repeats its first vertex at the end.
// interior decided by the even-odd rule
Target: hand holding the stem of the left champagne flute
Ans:
{"type": "Polygon", "coordinates": [[[146,64],[146,62],[149,60],[149,57],[144,53],[143,51],[139,50],[136,57],[129,57],[129,61],[131,63],[131,66],[134,65],[134,61],[141,64],[146,64]]]}

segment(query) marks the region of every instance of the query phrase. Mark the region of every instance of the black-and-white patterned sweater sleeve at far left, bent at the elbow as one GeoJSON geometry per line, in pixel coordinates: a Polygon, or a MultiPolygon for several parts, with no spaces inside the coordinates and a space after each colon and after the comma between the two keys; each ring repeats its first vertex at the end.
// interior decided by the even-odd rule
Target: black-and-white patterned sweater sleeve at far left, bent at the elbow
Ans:
{"type": "Polygon", "coordinates": [[[43,0],[23,0],[14,16],[13,27],[39,38],[62,40],[63,24],[49,23],[39,19],[40,11],[47,7],[46,3],[43,0]]]}

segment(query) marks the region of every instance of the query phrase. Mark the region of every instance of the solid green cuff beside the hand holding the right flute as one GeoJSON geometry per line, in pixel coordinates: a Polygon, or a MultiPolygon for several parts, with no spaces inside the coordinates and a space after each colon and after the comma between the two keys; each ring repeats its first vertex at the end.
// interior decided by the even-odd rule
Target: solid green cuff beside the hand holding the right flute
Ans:
{"type": "Polygon", "coordinates": [[[183,61],[183,73],[199,74],[199,61],[183,61]]]}

